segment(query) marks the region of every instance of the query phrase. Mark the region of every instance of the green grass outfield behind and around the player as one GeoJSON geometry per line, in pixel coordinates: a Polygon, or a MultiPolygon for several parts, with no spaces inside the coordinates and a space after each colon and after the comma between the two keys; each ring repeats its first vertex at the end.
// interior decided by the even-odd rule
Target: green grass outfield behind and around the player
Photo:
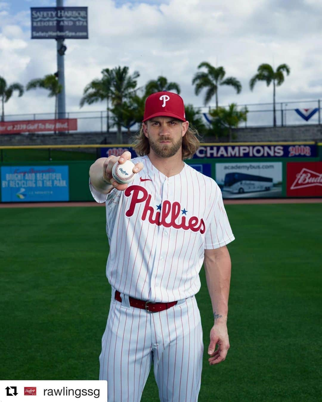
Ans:
{"type": "MultiPolygon", "coordinates": [[[[320,401],[322,204],[226,209],[236,237],[231,349],[212,367],[204,355],[199,401],[320,401]]],[[[0,218],[0,378],[97,379],[110,297],[105,209],[0,209],[0,218]]],[[[150,375],[142,401],[158,400],[150,375]]]]}

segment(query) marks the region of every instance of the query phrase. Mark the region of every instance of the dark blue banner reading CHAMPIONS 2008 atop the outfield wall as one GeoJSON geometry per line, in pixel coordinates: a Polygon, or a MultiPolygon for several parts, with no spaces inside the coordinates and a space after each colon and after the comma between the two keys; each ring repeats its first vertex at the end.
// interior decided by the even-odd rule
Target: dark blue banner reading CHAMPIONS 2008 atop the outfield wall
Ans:
{"type": "Polygon", "coordinates": [[[316,155],[315,144],[207,145],[200,146],[194,158],[312,158],[316,155]]]}

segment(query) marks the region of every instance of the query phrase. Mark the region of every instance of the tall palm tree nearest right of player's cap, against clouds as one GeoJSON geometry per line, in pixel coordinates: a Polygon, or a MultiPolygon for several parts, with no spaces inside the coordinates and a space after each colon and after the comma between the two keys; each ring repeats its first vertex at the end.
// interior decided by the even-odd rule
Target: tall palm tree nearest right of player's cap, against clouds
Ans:
{"type": "Polygon", "coordinates": [[[230,85],[235,88],[237,94],[242,90],[242,84],[235,77],[227,77],[225,80],[225,70],[223,67],[214,67],[208,62],[202,62],[198,68],[205,67],[207,72],[197,72],[192,79],[192,84],[196,84],[194,92],[199,95],[202,89],[206,88],[204,105],[210,102],[211,98],[216,96],[216,109],[218,109],[218,86],[230,85]]]}

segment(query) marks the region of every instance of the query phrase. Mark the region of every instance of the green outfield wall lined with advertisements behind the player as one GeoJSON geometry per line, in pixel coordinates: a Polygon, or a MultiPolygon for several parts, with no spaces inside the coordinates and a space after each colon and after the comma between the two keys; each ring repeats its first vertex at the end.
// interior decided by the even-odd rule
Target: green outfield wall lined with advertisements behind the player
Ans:
{"type": "MultiPolygon", "coordinates": [[[[86,147],[97,148],[101,156],[119,156],[125,150],[134,156],[130,144],[86,147]]],[[[214,178],[225,199],[322,197],[322,143],[204,143],[186,162],[214,178]]],[[[1,202],[92,201],[88,186],[92,163],[2,162],[1,202]]]]}

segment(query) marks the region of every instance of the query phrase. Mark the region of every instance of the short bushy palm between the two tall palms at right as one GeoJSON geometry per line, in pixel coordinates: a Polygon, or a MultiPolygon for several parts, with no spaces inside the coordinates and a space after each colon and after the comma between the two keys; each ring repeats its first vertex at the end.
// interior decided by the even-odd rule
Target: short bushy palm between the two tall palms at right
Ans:
{"type": "Polygon", "coordinates": [[[211,110],[209,114],[213,117],[212,126],[217,133],[221,135],[228,132],[229,142],[233,139],[233,128],[237,128],[239,123],[247,121],[248,110],[245,107],[242,110],[237,109],[237,104],[232,103],[228,109],[219,107],[218,109],[211,110]]]}

